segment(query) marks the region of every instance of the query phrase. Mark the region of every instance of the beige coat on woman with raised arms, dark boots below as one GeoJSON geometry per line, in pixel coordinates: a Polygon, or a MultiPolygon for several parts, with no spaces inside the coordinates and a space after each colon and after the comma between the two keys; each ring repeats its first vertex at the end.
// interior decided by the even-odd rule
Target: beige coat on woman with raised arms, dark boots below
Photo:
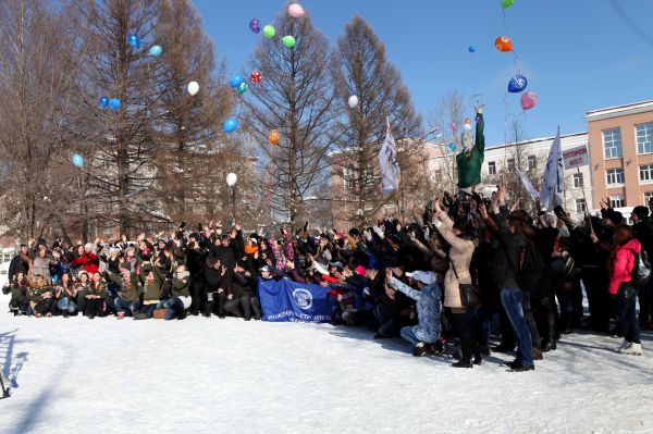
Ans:
{"type": "Polygon", "coordinates": [[[454,268],[449,263],[449,269],[444,276],[444,306],[447,308],[463,308],[464,306],[460,301],[460,289],[458,287],[458,283],[471,283],[469,264],[471,263],[471,256],[473,255],[476,246],[472,241],[454,235],[454,223],[448,215],[446,215],[446,213],[442,212],[440,214],[440,221],[434,223],[440,235],[442,235],[442,237],[452,245],[449,250],[449,259],[454,263],[459,278],[456,278],[454,268]]]}

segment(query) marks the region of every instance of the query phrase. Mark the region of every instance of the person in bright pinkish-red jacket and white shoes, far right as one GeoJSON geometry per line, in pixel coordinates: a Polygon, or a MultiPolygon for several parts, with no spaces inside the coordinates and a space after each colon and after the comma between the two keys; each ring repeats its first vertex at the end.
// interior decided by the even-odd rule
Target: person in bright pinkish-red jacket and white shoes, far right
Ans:
{"type": "Polygon", "coordinates": [[[632,270],[636,266],[636,255],[640,255],[642,245],[634,238],[628,225],[615,228],[613,251],[609,257],[611,273],[608,292],[615,299],[617,320],[624,332],[624,342],[617,349],[623,355],[642,355],[640,330],[634,314],[634,295],[632,270]]]}

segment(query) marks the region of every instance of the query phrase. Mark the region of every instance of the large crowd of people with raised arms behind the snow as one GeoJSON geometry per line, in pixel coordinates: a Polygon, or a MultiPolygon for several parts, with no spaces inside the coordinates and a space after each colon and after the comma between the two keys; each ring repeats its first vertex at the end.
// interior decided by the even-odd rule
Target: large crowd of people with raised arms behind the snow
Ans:
{"type": "Polygon", "coordinates": [[[530,371],[581,327],[623,336],[617,351],[641,355],[640,328],[653,326],[649,208],[627,225],[609,208],[576,222],[559,207],[531,216],[506,199],[505,186],[491,198],[444,195],[404,222],[361,221],[348,233],[306,223],[245,236],[211,223],[136,243],[41,239],[21,246],[3,292],[14,315],[249,321],[261,319],[259,283],[287,278],[324,287],[332,324],[402,336],[415,356],[451,349],[456,368],[514,351],[510,370],[530,371]],[[493,323],[501,342],[491,348],[493,323]]]}

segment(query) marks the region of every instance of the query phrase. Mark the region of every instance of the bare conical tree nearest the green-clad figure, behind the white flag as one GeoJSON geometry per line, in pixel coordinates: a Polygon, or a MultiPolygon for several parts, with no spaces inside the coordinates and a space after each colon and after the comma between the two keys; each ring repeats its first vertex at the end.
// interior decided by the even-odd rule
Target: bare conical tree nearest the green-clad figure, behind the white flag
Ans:
{"type": "MultiPolygon", "coordinates": [[[[333,161],[342,168],[341,177],[352,187],[340,200],[356,204],[356,212],[362,212],[365,219],[374,215],[380,207],[396,200],[401,194],[411,195],[417,185],[423,187],[420,175],[426,175],[424,168],[415,170],[415,163],[423,161],[421,142],[412,140],[410,146],[401,146],[404,137],[421,136],[421,117],[399,72],[387,60],[385,46],[362,17],[355,16],[345,26],[335,54],[332,69],[337,96],[335,106],[344,113],[344,120],[340,124],[340,152],[333,161]],[[354,109],[347,106],[349,96],[358,98],[354,109]],[[381,193],[378,168],[386,120],[390,120],[399,145],[397,160],[403,171],[401,190],[391,197],[381,193]],[[418,154],[421,158],[415,158],[418,154]]],[[[346,218],[353,221],[356,215],[352,213],[346,218]]]]}

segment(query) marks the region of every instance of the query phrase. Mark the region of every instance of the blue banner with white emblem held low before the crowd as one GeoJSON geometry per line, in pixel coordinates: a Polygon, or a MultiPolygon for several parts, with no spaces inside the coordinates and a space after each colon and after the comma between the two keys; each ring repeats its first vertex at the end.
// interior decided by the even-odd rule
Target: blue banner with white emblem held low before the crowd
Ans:
{"type": "Polygon", "coordinates": [[[271,322],[329,322],[331,307],[326,294],[330,288],[291,282],[259,278],[259,298],[263,321],[271,322]]]}

